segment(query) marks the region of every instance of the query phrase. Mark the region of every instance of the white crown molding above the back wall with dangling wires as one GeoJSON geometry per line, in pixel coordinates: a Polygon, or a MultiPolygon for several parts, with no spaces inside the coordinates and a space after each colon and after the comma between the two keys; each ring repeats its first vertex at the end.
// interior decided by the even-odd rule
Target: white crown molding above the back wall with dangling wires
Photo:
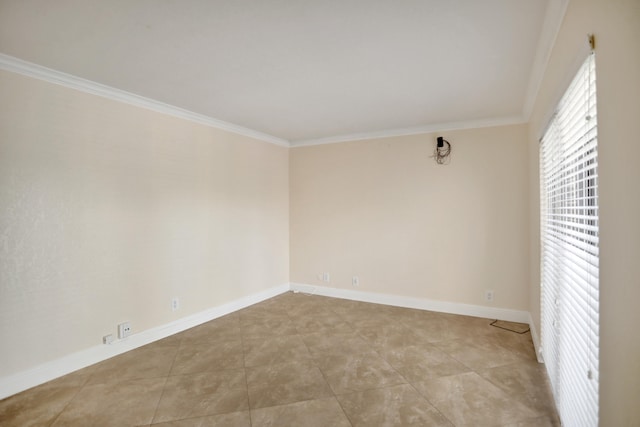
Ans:
{"type": "Polygon", "coordinates": [[[365,139],[391,138],[396,136],[418,135],[422,133],[445,132],[464,129],[479,129],[494,126],[508,126],[525,123],[522,116],[509,116],[485,120],[469,120],[464,122],[434,123],[400,129],[388,129],[378,132],[362,132],[349,135],[330,136],[327,138],[304,139],[291,141],[291,147],[305,147],[310,145],[336,144],[339,142],[361,141],[365,139]]]}

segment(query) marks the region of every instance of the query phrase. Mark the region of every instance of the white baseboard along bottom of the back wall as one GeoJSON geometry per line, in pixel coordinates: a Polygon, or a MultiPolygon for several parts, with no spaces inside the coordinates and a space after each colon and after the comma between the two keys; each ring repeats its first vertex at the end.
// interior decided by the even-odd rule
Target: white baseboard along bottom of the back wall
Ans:
{"type": "Polygon", "coordinates": [[[530,323],[529,312],[508,308],[486,307],[482,305],[462,304],[457,302],[437,301],[426,298],[403,297],[390,294],[354,291],[351,289],[329,288],[325,286],[291,283],[291,290],[306,294],[371,302],[375,304],[393,305],[396,307],[416,308],[419,310],[438,311],[441,313],[462,314],[466,316],[485,317],[487,319],[506,320],[509,322],[530,323]]]}

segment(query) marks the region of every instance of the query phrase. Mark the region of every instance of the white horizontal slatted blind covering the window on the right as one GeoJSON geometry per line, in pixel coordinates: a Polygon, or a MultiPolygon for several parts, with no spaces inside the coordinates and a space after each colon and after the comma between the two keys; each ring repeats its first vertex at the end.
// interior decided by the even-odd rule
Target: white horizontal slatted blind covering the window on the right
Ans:
{"type": "Polygon", "coordinates": [[[540,146],[542,355],[564,426],[598,425],[598,137],[595,55],[540,146]]]}

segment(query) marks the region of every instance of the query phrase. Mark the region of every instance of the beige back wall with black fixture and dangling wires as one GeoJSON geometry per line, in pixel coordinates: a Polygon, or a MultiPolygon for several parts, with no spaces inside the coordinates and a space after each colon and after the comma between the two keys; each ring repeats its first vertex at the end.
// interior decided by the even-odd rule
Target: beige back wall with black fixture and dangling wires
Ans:
{"type": "Polygon", "coordinates": [[[526,310],[527,127],[444,135],[292,149],[291,281],[526,310]]]}

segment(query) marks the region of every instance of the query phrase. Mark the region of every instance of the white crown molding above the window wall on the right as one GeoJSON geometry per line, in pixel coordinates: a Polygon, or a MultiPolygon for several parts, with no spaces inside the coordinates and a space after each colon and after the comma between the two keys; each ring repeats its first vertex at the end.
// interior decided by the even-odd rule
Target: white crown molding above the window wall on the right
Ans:
{"type": "Polygon", "coordinates": [[[544,21],[542,23],[542,31],[538,39],[536,56],[533,61],[533,67],[531,68],[531,76],[529,77],[527,95],[522,109],[522,116],[526,121],[529,121],[533,113],[533,107],[538,97],[540,86],[542,85],[542,79],[549,65],[551,52],[553,51],[553,46],[560,32],[560,27],[562,26],[568,5],[569,0],[550,0],[547,4],[544,21]]]}

